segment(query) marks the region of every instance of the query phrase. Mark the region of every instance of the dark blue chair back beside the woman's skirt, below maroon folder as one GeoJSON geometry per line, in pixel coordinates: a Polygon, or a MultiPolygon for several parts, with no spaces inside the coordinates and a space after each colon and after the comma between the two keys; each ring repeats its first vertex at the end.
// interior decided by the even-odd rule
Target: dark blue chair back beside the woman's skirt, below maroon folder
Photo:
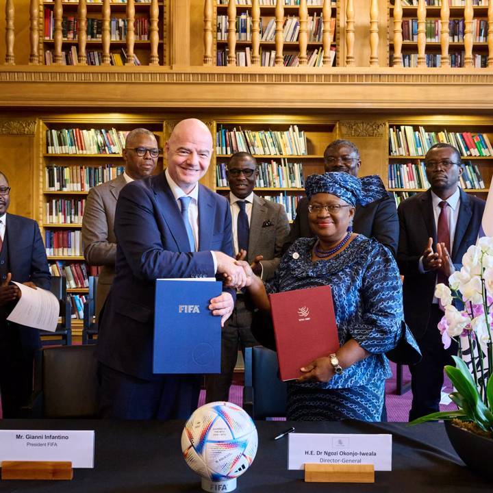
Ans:
{"type": "Polygon", "coordinates": [[[275,351],[246,348],[244,367],[243,409],[253,419],[286,416],[287,385],[279,379],[275,351]]]}

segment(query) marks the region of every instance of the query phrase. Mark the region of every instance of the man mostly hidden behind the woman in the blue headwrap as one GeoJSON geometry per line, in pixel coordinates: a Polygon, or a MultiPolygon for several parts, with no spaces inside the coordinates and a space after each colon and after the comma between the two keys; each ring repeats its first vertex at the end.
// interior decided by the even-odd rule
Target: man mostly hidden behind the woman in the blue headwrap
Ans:
{"type": "MultiPolygon", "coordinates": [[[[350,140],[334,140],[324,152],[326,172],[343,171],[357,177],[361,167],[359,150],[350,140]]],[[[375,238],[388,247],[395,256],[399,239],[399,220],[394,199],[389,195],[368,205],[357,205],[353,219],[353,231],[367,238],[375,238]]],[[[308,224],[308,200],[299,201],[296,218],[291,225],[288,241],[283,247],[286,251],[297,238],[311,238],[314,233],[308,224]]]]}

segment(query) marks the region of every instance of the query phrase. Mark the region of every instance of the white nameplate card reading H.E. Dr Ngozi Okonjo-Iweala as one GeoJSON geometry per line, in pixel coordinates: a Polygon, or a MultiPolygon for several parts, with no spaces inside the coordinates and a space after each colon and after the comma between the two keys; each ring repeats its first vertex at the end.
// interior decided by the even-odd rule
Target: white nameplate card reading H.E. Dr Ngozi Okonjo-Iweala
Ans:
{"type": "Polygon", "coordinates": [[[303,464],[373,464],[392,470],[392,435],[290,433],[288,469],[303,464]]]}

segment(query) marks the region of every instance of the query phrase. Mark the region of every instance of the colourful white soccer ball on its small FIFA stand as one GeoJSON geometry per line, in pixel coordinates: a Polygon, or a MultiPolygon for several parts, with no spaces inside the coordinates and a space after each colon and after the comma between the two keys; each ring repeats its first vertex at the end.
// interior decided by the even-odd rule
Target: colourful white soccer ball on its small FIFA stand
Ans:
{"type": "Polygon", "coordinates": [[[181,451],[206,491],[232,491],[257,453],[257,429],[241,407],[214,402],[197,409],[181,433],[181,451]]]}

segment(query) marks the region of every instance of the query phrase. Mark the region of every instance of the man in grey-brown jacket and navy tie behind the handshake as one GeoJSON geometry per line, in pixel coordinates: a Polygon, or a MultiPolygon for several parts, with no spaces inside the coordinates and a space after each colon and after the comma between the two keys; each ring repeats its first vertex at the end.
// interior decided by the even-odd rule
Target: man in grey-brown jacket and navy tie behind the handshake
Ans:
{"type": "MultiPolygon", "coordinates": [[[[247,152],[233,154],[227,166],[229,207],[236,258],[247,260],[253,272],[263,280],[273,277],[290,227],[283,205],[267,201],[253,193],[258,175],[257,161],[247,152]]],[[[252,312],[244,303],[244,294],[236,294],[231,317],[221,338],[221,372],[205,379],[207,402],[229,401],[229,387],[238,357],[258,342],[251,333],[252,312]]]]}

